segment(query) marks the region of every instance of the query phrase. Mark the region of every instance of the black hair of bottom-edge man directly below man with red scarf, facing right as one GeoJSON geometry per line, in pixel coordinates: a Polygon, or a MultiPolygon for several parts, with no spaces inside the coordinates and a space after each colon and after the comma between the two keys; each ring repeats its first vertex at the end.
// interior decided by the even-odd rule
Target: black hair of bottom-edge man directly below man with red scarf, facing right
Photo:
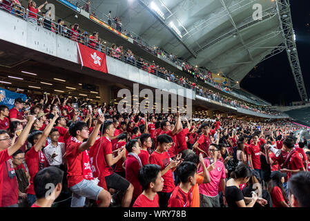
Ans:
{"type": "Polygon", "coordinates": [[[138,180],[142,186],[142,189],[146,190],[151,182],[155,183],[159,172],[160,166],[157,164],[146,164],[139,169],[138,180]]]}

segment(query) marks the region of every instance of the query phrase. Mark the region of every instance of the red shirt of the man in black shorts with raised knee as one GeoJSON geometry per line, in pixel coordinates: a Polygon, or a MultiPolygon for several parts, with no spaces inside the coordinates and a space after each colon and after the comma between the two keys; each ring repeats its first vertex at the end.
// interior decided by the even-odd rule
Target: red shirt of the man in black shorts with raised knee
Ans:
{"type": "Polygon", "coordinates": [[[106,155],[113,154],[112,142],[108,137],[100,137],[95,144],[90,147],[90,162],[92,162],[92,169],[94,177],[98,177],[98,186],[106,188],[106,176],[113,173],[112,166],[108,166],[106,162],[106,155]]]}

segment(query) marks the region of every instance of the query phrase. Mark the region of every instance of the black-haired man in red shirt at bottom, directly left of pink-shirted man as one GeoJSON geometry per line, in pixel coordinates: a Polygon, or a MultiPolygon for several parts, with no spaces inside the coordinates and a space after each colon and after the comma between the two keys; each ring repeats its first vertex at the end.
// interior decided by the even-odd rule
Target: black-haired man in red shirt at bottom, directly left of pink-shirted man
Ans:
{"type": "Polygon", "coordinates": [[[191,207],[193,193],[191,188],[196,184],[197,167],[193,162],[182,162],[177,166],[177,176],[181,183],[175,187],[168,207],[191,207]]]}

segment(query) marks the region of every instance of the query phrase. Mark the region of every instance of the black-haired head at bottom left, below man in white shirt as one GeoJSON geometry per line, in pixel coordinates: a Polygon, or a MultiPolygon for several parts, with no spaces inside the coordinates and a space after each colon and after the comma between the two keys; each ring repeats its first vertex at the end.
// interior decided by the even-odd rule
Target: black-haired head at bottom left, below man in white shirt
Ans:
{"type": "Polygon", "coordinates": [[[51,207],[61,192],[63,177],[64,171],[56,166],[49,166],[39,171],[33,179],[37,200],[31,207],[51,207]],[[48,193],[50,194],[47,195],[48,193]]]}

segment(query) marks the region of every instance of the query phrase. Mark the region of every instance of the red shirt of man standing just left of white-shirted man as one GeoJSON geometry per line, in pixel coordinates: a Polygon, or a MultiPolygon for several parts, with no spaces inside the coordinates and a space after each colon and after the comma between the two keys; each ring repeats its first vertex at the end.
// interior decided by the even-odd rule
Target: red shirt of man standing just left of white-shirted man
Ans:
{"type": "Polygon", "coordinates": [[[30,148],[29,151],[25,154],[25,162],[29,169],[29,175],[30,175],[30,186],[27,189],[28,194],[35,195],[35,189],[33,186],[33,178],[35,178],[35,175],[41,171],[41,169],[49,166],[48,160],[46,160],[45,155],[42,151],[35,151],[35,145],[30,148]]]}

